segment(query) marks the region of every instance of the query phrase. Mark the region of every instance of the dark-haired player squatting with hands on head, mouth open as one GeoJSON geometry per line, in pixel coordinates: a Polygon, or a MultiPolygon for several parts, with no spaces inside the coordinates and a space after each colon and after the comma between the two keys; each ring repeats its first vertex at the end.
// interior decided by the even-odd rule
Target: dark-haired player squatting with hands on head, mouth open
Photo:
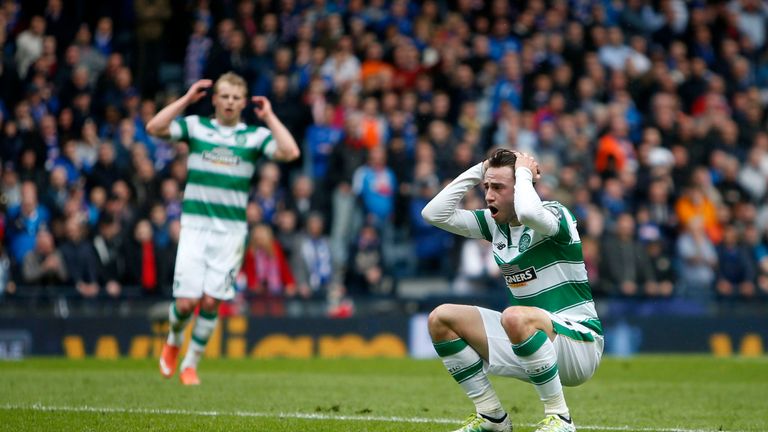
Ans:
{"type": "Polygon", "coordinates": [[[573,432],[563,385],[584,383],[600,364],[602,325],[576,219],[560,203],[541,201],[533,186],[538,170],[525,153],[497,150],[422,211],[436,227],[491,242],[513,297],[503,312],[443,304],[429,315],[435,350],[476,408],[457,432],[512,430],[488,374],[534,385],[545,415],[537,432],[573,432]],[[487,208],[457,208],[480,183],[487,208]]]}

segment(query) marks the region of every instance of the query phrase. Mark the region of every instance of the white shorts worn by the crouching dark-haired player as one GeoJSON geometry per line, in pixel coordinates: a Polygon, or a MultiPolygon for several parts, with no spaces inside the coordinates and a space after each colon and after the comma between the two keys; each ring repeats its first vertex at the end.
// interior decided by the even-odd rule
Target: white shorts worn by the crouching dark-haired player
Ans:
{"type": "MultiPolygon", "coordinates": [[[[517,378],[529,382],[528,375],[520,365],[520,360],[512,351],[504,327],[501,326],[501,312],[478,307],[483,318],[485,333],[488,337],[488,361],[483,362],[483,370],[490,375],[517,378]]],[[[542,309],[543,310],[543,309],[542,309]]],[[[552,343],[557,352],[557,367],[560,382],[564,386],[577,386],[587,381],[597,370],[603,356],[604,339],[583,325],[566,320],[548,311],[553,322],[577,333],[592,336],[593,341],[569,337],[567,334],[557,334],[552,343]]],[[[563,331],[563,333],[566,333],[563,331]]],[[[586,337],[589,339],[589,336],[586,337]]]]}

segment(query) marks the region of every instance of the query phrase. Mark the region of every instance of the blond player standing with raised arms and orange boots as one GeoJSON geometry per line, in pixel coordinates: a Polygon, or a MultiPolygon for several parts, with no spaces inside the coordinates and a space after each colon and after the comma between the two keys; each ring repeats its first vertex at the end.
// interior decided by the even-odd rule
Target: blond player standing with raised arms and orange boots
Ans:
{"type": "Polygon", "coordinates": [[[151,135],[189,144],[173,277],[175,301],[168,312],[171,328],[160,356],[160,372],[173,376],[184,329],[199,305],[192,340],[181,363],[180,378],[185,385],[200,384],[197,365],[216,327],[219,303],[234,296],[234,277],[248,233],[245,209],[256,162],[263,157],[281,162],[299,157],[296,141],[267,98],[251,98],[254,112],[266,128],[241,121],[247,93],[245,80],[232,72],[223,74],[215,84],[199,80],[147,123],[151,135]],[[213,119],[195,115],[177,118],[211,86],[213,119]]]}

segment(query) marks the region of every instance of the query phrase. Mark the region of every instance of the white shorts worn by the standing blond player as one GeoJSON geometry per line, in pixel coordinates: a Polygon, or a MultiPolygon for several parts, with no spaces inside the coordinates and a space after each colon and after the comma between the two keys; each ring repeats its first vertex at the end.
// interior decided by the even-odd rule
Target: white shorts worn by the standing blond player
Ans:
{"type": "Polygon", "coordinates": [[[199,299],[205,293],[219,300],[232,299],[245,240],[245,232],[182,227],[173,273],[173,297],[199,299]]]}

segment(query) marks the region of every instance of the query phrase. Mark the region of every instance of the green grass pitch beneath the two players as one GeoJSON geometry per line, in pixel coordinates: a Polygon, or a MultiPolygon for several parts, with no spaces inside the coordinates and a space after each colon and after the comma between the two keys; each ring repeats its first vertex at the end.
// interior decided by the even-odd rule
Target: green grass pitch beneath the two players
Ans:
{"type": "MultiPolygon", "coordinates": [[[[603,360],[566,388],[579,430],[768,430],[768,358],[603,360]]],[[[149,360],[0,362],[0,431],[447,431],[473,406],[439,361],[204,360],[199,387],[149,360]]],[[[493,377],[516,432],[542,407],[529,384],[493,377]]]]}

